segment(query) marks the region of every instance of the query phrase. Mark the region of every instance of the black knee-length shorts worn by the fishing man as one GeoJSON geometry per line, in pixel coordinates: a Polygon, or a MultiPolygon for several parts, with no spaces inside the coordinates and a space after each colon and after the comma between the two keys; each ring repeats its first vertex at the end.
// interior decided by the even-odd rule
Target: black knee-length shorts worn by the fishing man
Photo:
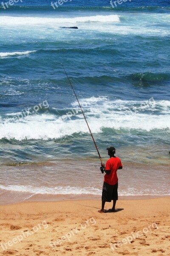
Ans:
{"type": "Polygon", "coordinates": [[[102,189],[102,201],[111,202],[118,200],[118,182],[115,185],[109,185],[104,181],[102,189]]]}

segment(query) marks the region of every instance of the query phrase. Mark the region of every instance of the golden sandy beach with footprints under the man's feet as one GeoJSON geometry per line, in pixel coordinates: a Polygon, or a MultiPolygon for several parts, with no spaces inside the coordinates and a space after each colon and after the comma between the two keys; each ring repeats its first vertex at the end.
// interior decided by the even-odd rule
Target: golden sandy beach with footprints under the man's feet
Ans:
{"type": "Polygon", "coordinates": [[[170,198],[0,206],[0,255],[169,255],[170,198]]]}

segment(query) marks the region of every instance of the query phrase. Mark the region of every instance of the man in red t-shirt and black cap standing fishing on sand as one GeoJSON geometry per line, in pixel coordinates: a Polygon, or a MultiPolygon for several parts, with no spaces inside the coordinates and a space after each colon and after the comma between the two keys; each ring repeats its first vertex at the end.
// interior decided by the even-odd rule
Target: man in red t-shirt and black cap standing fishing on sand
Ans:
{"type": "Polygon", "coordinates": [[[102,164],[104,169],[105,178],[102,189],[102,209],[98,212],[104,213],[105,202],[111,202],[113,200],[113,207],[109,209],[115,212],[116,201],[118,200],[118,177],[117,170],[122,169],[122,163],[119,157],[115,157],[116,149],[114,147],[107,148],[110,159],[105,164],[102,164]]]}

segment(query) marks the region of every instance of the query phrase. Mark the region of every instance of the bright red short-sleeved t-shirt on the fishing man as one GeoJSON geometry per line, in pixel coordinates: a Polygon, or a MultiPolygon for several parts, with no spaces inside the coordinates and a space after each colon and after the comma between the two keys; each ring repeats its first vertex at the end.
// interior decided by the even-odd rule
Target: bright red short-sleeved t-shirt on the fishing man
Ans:
{"type": "Polygon", "coordinates": [[[119,157],[111,157],[107,162],[105,169],[111,170],[109,175],[105,174],[104,181],[109,185],[115,185],[118,182],[117,170],[122,166],[121,160],[119,157]]]}

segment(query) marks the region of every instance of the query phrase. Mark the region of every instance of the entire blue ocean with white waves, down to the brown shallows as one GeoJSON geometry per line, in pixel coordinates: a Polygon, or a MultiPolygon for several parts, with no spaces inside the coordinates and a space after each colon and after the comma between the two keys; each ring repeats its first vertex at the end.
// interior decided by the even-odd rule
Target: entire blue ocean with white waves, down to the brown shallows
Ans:
{"type": "Polygon", "coordinates": [[[61,63],[103,161],[112,145],[122,160],[119,195],[170,195],[170,2],[59,3],[0,1],[0,203],[101,198],[61,63]]]}

